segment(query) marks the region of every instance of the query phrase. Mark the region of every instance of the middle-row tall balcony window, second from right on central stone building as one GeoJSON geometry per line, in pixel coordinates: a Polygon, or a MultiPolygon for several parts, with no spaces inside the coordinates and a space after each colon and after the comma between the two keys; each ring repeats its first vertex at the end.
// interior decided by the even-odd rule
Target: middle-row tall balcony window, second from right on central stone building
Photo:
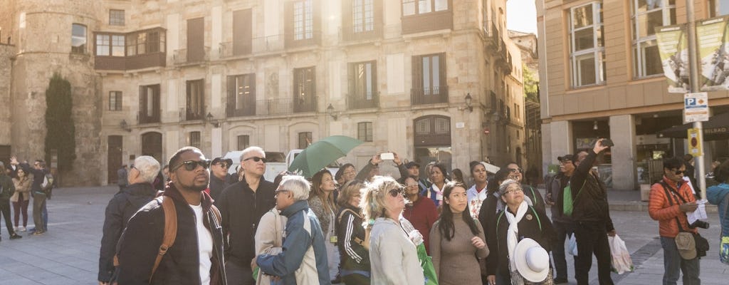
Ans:
{"type": "Polygon", "coordinates": [[[377,62],[349,63],[349,108],[371,108],[377,104],[377,62]]]}

